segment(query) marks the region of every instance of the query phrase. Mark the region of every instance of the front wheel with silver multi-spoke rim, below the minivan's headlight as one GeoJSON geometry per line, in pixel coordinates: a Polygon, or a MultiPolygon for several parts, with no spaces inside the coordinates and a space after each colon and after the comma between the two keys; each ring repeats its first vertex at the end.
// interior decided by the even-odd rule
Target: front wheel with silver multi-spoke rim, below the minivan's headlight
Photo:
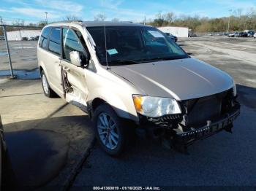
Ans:
{"type": "Polygon", "coordinates": [[[124,150],[127,128],[121,118],[108,104],[102,104],[95,109],[93,121],[100,147],[108,155],[120,155],[124,150]]]}

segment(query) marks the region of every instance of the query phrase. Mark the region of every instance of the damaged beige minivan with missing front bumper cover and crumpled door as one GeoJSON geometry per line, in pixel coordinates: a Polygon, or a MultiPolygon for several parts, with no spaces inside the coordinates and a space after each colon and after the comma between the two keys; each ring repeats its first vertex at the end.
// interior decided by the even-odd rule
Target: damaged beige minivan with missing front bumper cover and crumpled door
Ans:
{"type": "Polygon", "coordinates": [[[89,114],[102,149],[118,155],[133,130],[185,150],[231,132],[240,105],[224,71],[166,34],[129,22],[53,23],[37,48],[42,88],[89,114]]]}

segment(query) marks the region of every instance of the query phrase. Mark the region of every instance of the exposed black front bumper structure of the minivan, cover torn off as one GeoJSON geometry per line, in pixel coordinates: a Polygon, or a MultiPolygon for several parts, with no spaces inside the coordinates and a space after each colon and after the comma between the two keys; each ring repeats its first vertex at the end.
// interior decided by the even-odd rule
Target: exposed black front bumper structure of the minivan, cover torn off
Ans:
{"type": "Polygon", "coordinates": [[[240,104],[234,101],[233,107],[219,117],[207,120],[205,125],[189,126],[182,124],[182,115],[162,117],[158,120],[140,118],[140,126],[154,138],[165,139],[170,147],[181,152],[195,141],[206,139],[209,136],[227,130],[232,132],[233,121],[240,114],[240,104]],[[163,123],[163,121],[168,121],[163,123]]]}

